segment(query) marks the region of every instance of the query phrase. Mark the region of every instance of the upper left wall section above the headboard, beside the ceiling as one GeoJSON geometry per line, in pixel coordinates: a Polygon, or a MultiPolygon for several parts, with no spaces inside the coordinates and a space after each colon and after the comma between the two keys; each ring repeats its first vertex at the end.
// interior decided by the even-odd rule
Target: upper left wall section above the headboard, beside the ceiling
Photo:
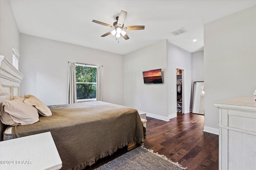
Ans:
{"type": "Polygon", "coordinates": [[[20,31],[9,0],[0,0],[0,55],[12,63],[12,48],[20,52],[20,31]]]}

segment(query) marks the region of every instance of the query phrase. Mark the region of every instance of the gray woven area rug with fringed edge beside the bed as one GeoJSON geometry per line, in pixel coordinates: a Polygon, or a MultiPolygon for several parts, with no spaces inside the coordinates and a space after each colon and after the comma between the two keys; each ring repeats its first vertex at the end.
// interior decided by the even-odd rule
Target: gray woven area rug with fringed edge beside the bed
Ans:
{"type": "Polygon", "coordinates": [[[185,170],[178,162],[170,161],[166,156],[154,153],[144,147],[138,147],[118,158],[98,167],[96,170],[185,170]]]}

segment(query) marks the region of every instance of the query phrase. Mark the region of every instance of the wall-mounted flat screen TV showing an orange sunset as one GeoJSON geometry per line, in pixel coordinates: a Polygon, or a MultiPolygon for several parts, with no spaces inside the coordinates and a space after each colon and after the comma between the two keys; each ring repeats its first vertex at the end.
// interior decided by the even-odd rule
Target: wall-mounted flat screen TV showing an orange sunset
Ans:
{"type": "Polygon", "coordinates": [[[144,84],[163,83],[161,68],[156,70],[143,71],[142,73],[143,73],[144,84]]]}

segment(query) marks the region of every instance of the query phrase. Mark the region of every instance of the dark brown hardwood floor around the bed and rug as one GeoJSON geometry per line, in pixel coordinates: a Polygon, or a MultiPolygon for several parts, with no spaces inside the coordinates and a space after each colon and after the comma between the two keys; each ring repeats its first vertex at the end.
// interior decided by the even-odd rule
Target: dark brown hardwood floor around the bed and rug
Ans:
{"type": "MultiPolygon", "coordinates": [[[[188,170],[218,170],[218,135],[203,132],[203,115],[177,113],[170,121],[151,117],[147,120],[145,148],[179,162],[188,170]]],[[[126,152],[127,147],[118,149],[84,170],[98,168],[126,152]]]]}

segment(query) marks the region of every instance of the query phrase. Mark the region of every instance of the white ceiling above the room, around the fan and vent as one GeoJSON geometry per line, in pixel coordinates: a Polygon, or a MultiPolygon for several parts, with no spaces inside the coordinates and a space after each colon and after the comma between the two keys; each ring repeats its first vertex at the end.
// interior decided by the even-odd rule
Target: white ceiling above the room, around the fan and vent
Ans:
{"type": "Polygon", "coordinates": [[[256,0],[10,0],[20,33],[125,55],[147,45],[168,42],[189,52],[204,46],[204,24],[256,5],[256,0]],[[112,28],[120,11],[128,12],[130,39],[100,37],[112,28]],[[172,35],[184,27],[188,32],[172,35]],[[193,39],[197,39],[193,42],[193,39]],[[119,43],[118,43],[119,41],[119,43]]]}

